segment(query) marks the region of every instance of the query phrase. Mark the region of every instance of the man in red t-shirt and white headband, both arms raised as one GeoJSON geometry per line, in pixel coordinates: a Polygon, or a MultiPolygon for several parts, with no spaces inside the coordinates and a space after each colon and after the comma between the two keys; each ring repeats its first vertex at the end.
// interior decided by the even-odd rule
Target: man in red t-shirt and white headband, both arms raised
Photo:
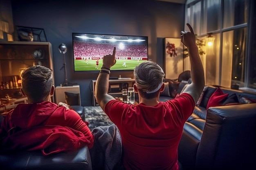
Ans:
{"type": "Polygon", "coordinates": [[[191,61],[191,79],[184,92],[175,99],[159,102],[164,91],[164,71],[155,62],[142,62],[134,69],[138,105],[117,101],[108,95],[110,67],[116,63],[112,55],[103,57],[96,82],[95,96],[121,134],[126,170],[178,170],[177,148],[185,121],[193,113],[204,88],[204,71],[192,27],[181,31],[181,42],[187,46],[191,61]]]}

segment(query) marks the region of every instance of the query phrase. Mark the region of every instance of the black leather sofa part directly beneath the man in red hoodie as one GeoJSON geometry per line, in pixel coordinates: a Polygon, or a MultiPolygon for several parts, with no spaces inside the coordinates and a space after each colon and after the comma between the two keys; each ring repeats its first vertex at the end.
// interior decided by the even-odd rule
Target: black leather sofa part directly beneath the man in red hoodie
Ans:
{"type": "Polygon", "coordinates": [[[73,152],[59,152],[44,156],[40,150],[0,154],[2,169],[8,170],[92,170],[87,146],[73,152]]]}

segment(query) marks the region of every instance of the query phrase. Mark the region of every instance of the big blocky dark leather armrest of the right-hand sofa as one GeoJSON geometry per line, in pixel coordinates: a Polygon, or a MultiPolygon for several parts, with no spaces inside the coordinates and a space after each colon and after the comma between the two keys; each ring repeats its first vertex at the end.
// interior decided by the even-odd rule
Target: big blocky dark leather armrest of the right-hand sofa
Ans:
{"type": "Polygon", "coordinates": [[[250,169],[256,153],[256,104],[210,107],[196,170],[250,169]]]}

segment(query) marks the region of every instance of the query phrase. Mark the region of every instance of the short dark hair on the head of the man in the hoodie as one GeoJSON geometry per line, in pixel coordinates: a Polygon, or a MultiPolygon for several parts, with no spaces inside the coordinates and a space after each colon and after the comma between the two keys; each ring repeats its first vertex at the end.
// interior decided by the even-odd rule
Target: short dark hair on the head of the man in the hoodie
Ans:
{"type": "Polygon", "coordinates": [[[22,90],[33,103],[47,99],[53,85],[52,70],[45,66],[31,66],[22,74],[22,90]]]}

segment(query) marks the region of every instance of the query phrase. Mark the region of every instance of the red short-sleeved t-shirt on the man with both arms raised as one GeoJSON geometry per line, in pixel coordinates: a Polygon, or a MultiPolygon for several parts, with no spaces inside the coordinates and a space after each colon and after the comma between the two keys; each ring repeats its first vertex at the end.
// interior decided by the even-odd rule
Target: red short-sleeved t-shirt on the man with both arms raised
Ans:
{"type": "Polygon", "coordinates": [[[117,100],[105,112],[119,128],[127,170],[178,170],[177,148],[185,121],[193,113],[193,97],[182,93],[156,106],[128,105],[117,100]]]}

